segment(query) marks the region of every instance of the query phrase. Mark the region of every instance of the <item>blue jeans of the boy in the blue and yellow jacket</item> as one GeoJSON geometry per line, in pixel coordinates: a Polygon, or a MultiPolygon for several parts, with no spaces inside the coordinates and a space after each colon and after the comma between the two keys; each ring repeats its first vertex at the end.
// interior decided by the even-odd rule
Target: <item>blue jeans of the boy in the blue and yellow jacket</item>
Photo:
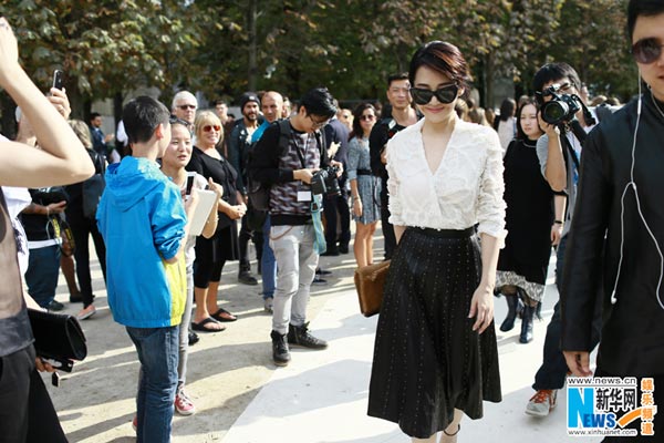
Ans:
{"type": "Polygon", "coordinates": [[[141,361],[137,442],[168,443],[177,387],[179,326],[126,329],[141,361]]]}

